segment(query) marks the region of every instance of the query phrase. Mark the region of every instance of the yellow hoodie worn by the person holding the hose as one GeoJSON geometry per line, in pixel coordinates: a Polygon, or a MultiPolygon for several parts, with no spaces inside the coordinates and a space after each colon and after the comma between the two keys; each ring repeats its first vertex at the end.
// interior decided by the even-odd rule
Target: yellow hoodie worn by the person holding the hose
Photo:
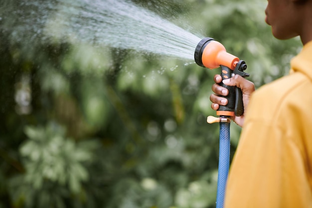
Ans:
{"type": "Polygon", "coordinates": [[[250,101],[225,208],[312,208],[312,42],[250,101]]]}

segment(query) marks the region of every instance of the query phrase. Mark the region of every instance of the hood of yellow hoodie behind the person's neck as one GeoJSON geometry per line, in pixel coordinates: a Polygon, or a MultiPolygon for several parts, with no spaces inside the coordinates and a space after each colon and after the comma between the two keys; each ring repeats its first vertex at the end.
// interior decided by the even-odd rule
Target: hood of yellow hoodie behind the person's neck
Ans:
{"type": "Polygon", "coordinates": [[[291,60],[292,72],[301,72],[312,81],[312,41],[305,44],[302,51],[291,60]]]}

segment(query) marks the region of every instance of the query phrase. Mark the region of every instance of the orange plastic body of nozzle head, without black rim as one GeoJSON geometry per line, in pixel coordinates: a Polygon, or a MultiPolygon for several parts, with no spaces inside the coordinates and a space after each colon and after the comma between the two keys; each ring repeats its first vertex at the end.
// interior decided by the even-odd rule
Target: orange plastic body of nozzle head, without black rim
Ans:
{"type": "Polygon", "coordinates": [[[225,47],[220,42],[211,41],[204,48],[201,60],[203,65],[210,69],[223,65],[234,70],[239,58],[226,52],[225,47]]]}

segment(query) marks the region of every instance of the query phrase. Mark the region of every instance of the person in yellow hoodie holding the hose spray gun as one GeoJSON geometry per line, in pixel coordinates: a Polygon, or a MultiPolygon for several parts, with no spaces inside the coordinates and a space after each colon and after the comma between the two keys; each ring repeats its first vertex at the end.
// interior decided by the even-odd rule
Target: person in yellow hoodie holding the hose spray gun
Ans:
{"type": "MultiPolygon", "coordinates": [[[[238,75],[223,80],[242,89],[245,113],[225,194],[225,208],[312,208],[312,0],[268,0],[265,21],[278,39],[300,36],[290,74],[255,90],[238,75]]],[[[228,91],[210,95],[217,110],[228,91]]]]}

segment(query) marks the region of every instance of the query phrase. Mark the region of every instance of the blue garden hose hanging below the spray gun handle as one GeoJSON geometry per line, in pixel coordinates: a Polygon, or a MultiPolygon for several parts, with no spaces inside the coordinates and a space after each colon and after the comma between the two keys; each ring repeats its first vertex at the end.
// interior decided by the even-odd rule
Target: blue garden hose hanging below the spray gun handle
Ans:
{"type": "Polygon", "coordinates": [[[220,122],[219,167],[216,208],[223,208],[230,167],[230,123],[220,122]]]}

